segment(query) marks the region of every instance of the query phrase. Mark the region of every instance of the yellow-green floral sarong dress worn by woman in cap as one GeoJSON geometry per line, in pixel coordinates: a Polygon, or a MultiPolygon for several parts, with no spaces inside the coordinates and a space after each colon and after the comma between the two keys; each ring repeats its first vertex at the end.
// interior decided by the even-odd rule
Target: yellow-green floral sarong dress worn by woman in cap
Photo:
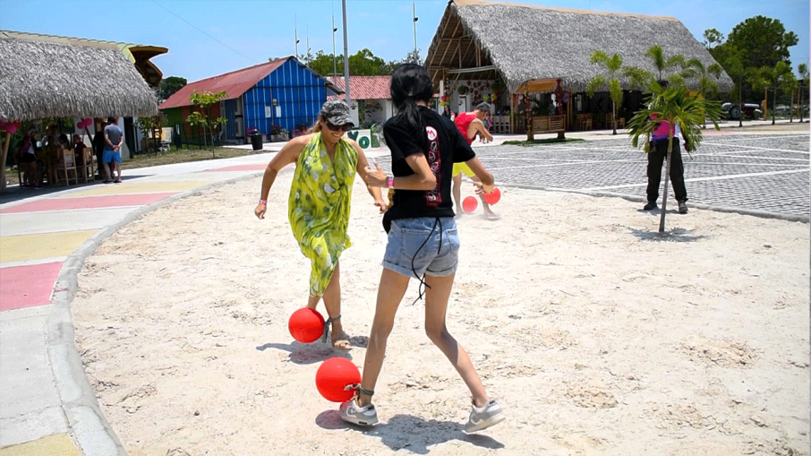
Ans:
{"type": "Polygon", "coordinates": [[[332,162],[318,133],[295,163],[287,211],[293,236],[312,262],[311,296],[324,295],[341,253],[352,245],[346,228],[357,162],[357,151],[343,138],[332,162]]]}

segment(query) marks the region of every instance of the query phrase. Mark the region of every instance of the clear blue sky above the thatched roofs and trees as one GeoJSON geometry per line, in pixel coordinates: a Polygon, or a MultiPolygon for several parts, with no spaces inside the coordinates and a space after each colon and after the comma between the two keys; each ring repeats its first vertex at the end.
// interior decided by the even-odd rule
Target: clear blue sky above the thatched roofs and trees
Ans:
{"type": "MultiPolygon", "coordinates": [[[[698,41],[704,30],[724,36],[733,27],[756,15],[782,22],[798,35],[790,47],[791,65],[808,64],[808,0],[513,0],[614,13],[672,16],[698,41]]],[[[346,0],[346,30],[350,55],[369,48],[386,61],[402,60],[416,40],[424,58],[437,31],[447,1],[346,0]]],[[[314,55],[332,54],[332,21],[336,51],[343,53],[341,0],[0,0],[0,30],[27,31],[65,37],[101,39],[167,47],[168,53],[152,58],[167,76],[189,82],[293,56],[307,44],[314,55]]],[[[338,69],[342,72],[342,69],[338,69]]]]}

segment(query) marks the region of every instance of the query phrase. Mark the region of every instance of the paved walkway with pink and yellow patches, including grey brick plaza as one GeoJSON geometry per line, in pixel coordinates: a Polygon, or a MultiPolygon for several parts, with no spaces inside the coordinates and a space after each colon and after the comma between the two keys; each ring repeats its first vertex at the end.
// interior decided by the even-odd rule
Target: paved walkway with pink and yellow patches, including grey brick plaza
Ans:
{"type": "MultiPolygon", "coordinates": [[[[694,160],[686,161],[690,202],[807,220],[807,127],[746,133],[708,131],[694,160]]],[[[642,201],[645,158],[625,134],[568,136],[588,141],[541,148],[501,144],[523,139],[518,135],[474,147],[482,148],[480,157],[499,185],[642,201]]],[[[278,150],[281,144],[268,146],[278,150]]],[[[388,160],[385,149],[367,155],[388,160]]],[[[258,176],[269,158],[262,153],[128,169],[119,185],[11,189],[0,195],[0,456],[125,454],[98,409],[74,343],[70,305],[84,259],[141,214],[211,185],[258,176]]]]}

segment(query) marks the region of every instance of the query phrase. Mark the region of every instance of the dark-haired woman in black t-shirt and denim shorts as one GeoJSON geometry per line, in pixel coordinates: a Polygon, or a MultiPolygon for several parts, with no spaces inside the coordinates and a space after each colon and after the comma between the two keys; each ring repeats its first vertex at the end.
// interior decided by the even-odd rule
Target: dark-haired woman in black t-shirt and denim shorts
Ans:
{"type": "Polygon", "coordinates": [[[340,414],[342,419],[356,425],[378,422],[371,395],[386,355],[397,306],[406,294],[408,281],[414,277],[426,288],[425,332],[456,367],[473,395],[473,410],[465,432],[475,432],[499,423],[504,414],[499,403],[484,391],[465,348],[445,325],[459,250],[450,183],[454,162],[465,162],[481,179],[478,193],[492,192],[493,176],[475,157],[456,126],[427,107],[432,96],[431,77],[423,66],[397,66],[391,76],[391,98],[397,116],[383,125],[394,176],[387,177],[377,164],[377,169],[367,168],[368,185],[395,189],[393,204],[383,216],[388,245],[363,364],[363,381],[356,385],[354,399],[341,404],[340,414]]]}

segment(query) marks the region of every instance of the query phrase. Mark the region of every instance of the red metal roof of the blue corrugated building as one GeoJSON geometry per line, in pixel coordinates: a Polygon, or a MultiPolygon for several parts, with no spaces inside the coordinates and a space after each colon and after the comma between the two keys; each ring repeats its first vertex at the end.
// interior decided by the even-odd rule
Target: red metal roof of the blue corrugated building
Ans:
{"type": "Polygon", "coordinates": [[[189,106],[192,104],[189,97],[195,91],[209,91],[211,93],[225,91],[226,99],[235,99],[242,96],[243,93],[251,89],[257,82],[260,82],[262,78],[273,73],[274,70],[291,58],[293,57],[279,58],[267,64],[253,65],[248,68],[243,68],[242,70],[236,70],[235,72],[191,82],[186,84],[183,89],[177,90],[171,97],[161,103],[158,109],[189,106]]]}

